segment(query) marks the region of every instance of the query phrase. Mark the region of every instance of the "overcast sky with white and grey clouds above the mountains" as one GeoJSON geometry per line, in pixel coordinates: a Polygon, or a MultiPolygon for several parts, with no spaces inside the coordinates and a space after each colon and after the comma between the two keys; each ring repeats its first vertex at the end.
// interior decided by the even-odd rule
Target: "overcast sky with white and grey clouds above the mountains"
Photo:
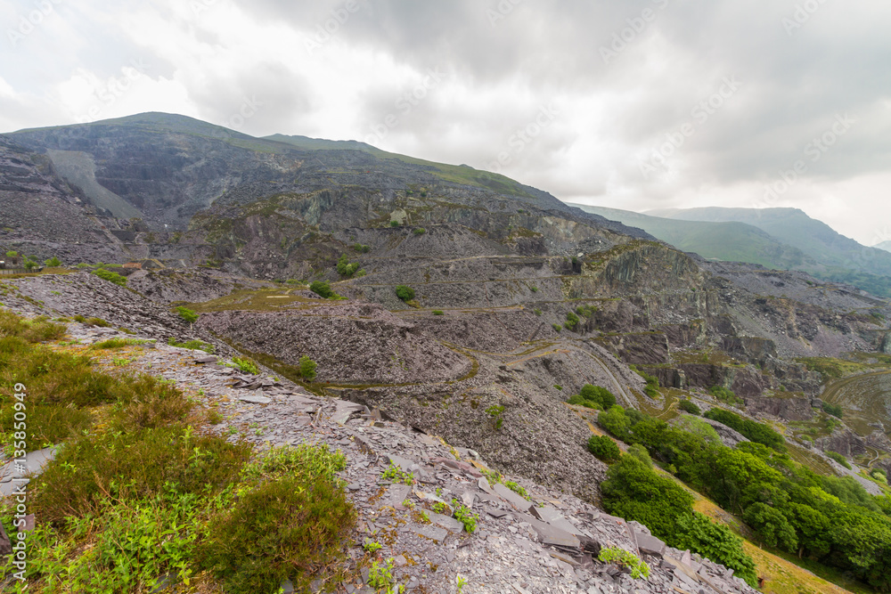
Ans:
{"type": "Polygon", "coordinates": [[[5,0],[0,131],[167,111],[891,240],[887,0],[5,0]]]}

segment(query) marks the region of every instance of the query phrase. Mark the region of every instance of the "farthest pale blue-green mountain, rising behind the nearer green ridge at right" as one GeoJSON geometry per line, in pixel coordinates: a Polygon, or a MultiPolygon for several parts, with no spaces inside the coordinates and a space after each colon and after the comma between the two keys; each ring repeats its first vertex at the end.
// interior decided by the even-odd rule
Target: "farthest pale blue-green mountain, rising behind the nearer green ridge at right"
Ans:
{"type": "Polygon", "coordinates": [[[891,253],[863,246],[797,208],[668,208],[645,214],[676,221],[752,225],[813,259],[794,269],[891,297],[891,253]]]}

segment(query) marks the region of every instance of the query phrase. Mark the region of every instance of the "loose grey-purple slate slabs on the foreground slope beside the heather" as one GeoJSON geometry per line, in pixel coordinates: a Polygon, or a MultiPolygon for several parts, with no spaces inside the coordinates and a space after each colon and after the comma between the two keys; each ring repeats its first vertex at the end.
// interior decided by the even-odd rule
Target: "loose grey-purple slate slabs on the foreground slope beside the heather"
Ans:
{"type": "MultiPolygon", "coordinates": [[[[84,344],[99,337],[127,336],[100,330],[69,324],[69,334],[84,344]]],[[[645,527],[628,525],[571,495],[524,482],[530,496],[526,500],[503,484],[489,484],[470,463],[485,466],[477,452],[453,450],[438,438],[378,419],[364,404],[307,394],[290,382],[276,384],[263,375],[251,378],[263,389],[245,395],[243,388],[233,387],[231,369],[209,361],[196,364],[194,352],[163,343],[135,348],[127,356],[135,359],[133,371],[173,379],[192,395],[202,390],[195,397],[217,407],[226,419],[214,430],[226,435],[234,427],[239,432],[228,437],[232,441],[244,439],[261,450],[327,443],[346,454],[347,468],[340,474],[358,520],[356,547],[348,551],[350,577],[339,590],[373,591],[365,584],[367,566],[361,564],[366,556],[362,543],[368,538],[383,545],[377,553],[380,560],[399,559],[393,573],[409,591],[421,586],[429,592],[454,591],[455,576],[461,575],[472,588],[467,591],[483,594],[756,592],[725,567],[668,548],[645,527]],[[255,426],[260,435],[251,428],[255,426]],[[453,452],[462,460],[455,460],[453,452]],[[415,483],[384,480],[390,463],[412,473],[415,483]],[[478,515],[474,533],[467,533],[453,517],[432,511],[436,501],[450,503],[453,498],[478,515]],[[413,509],[402,505],[406,500],[413,509]],[[421,509],[429,523],[421,520],[421,509]],[[650,564],[650,579],[632,580],[619,568],[597,561],[601,547],[613,546],[639,552],[650,564]]],[[[286,591],[288,585],[282,583],[286,591]]],[[[322,586],[316,583],[313,590],[321,591],[322,586]]]]}

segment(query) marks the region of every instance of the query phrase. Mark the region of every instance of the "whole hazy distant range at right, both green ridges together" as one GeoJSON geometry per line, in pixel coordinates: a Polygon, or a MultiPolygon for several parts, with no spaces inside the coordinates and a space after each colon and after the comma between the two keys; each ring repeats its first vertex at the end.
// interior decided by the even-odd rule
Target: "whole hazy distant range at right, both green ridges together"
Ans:
{"type": "Polygon", "coordinates": [[[797,208],[672,208],[634,213],[573,206],[639,227],[705,258],[800,270],[891,297],[887,250],[863,246],[797,208]]]}

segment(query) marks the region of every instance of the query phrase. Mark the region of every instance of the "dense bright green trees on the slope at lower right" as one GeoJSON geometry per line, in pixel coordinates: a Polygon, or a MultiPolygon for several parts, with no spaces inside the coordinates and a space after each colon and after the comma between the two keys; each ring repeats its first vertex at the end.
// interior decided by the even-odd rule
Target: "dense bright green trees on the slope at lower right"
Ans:
{"type": "Polygon", "coordinates": [[[741,427],[753,441],[734,449],[707,432],[672,427],[639,411],[616,406],[602,413],[602,427],[648,454],[623,455],[609,468],[601,484],[607,511],[637,520],[669,545],[732,567],[753,583],[754,565],[740,539],[693,511],[690,493],[650,468],[651,457],[739,515],[764,546],[891,591],[891,499],[871,496],[850,476],[819,476],[791,460],[770,427],[726,411],[708,416],[741,427]]]}

